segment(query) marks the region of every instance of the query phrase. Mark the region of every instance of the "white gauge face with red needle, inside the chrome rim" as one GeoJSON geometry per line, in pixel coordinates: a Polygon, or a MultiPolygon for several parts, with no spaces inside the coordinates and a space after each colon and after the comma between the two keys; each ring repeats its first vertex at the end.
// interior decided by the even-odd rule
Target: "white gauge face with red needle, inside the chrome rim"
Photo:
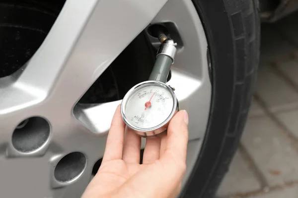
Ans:
{"type": "Polygon", "coordinates": [[[171,115],[174,98],[162,85],[145,84],[135,89],[124,105],[130,125],[146,130],[162,124],[171,115]]]}

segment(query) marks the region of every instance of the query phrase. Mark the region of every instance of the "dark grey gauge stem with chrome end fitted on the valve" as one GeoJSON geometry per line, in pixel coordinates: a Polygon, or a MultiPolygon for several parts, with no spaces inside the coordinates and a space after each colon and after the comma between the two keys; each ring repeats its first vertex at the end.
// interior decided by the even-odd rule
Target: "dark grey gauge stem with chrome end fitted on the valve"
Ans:
{"type": "Polygon", "coordinates": [[[155,64],[149,80],[166,83],[171,65],[174,63],[177,44],[172,39],[165,39],[165,36],[162,34],[159,35],[158,39],[162,43],[157,50],[155,64]]]}

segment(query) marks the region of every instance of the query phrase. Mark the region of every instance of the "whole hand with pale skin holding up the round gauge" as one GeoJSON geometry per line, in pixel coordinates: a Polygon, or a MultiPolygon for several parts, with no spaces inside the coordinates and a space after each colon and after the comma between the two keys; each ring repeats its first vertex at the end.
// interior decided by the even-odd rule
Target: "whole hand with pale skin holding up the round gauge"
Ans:
{"type": "Polygon", "coordinates": [[[141,138],[120,113],[114,114],[98,172],[82,198],[175,198],[186,169],[188,115],[179,111],[170,121],[167,134],[146,140],[140,164],[141,138]]]}

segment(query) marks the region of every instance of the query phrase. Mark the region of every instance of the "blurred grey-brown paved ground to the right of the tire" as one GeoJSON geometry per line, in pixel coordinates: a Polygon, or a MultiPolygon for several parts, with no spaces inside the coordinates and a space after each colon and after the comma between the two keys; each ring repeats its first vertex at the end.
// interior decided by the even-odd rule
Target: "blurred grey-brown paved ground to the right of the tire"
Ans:
{"type": "Polygon", "coordinates": [[[254,100],[217,198],[298,198],[298,13],[261,30],[254,100]]]}

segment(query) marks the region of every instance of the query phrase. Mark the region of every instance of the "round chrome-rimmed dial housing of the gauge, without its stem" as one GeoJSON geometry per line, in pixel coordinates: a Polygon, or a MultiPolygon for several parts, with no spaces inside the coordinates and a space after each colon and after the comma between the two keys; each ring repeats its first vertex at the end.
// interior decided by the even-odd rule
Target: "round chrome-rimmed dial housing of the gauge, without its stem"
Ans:
{"type": "Polygon", "coordinates": [[[134,86],[124,97],[121,106],[126,125],[142,137],[165,131],[178,110],[178,101],[172,88],[159,81],[145,81],[134,86]]]}

